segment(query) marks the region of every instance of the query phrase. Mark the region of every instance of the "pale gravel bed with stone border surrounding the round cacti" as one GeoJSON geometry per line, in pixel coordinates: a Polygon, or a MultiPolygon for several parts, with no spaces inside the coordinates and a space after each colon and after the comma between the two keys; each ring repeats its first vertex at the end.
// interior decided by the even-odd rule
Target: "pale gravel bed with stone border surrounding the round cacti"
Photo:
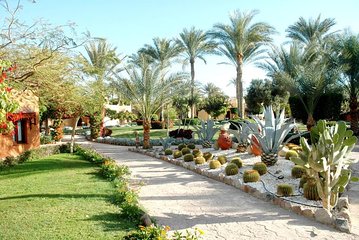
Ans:
{"type": "MultiPolygon", "coordinates": [[[[174,150],[175,147],[172,147],[172,149],[174,150]]],[[[294,163],[285,158],[279,157],[278,162],[274,166],[268,167],[268,173],[262,175],[259,182],[244,183],[244,171],[252,169],[254,163],[260,162],[260,157],[255,157],[247,153],[236,153],[235,149],[225,151],[214,150],[213,148],[201,149],[203,152],[211,152],[214,156],[226,155],[228,161],[233,157],[240,157],[242,159],[243,167],[239,169],[239,173],[233,176],[226,176],[224,169],[227,163],[223,164],[221,168],[209,169],[208,162],[196,165],[193,161],[184,162],[183,157],[174,159],[172,155],[165,156],[162,148],[154,148],[151,150],[130,148],[129,150],[182,166],[203,176],[239,188],[256,198],[271,202],[299,215],[333,226],[340,231],[350,232],[351,230],[348,198],[341,197],[339,199],[338,207],[332,212],[332,215],[328,215],[327,211],[322,208],[321,201],[311,201],[303,197],[302,189],[299,188],[300,179],[295,179],[291,176],[291,169],[294,166],[294,163]],[[292,196],[280,197],[276,194],[277,185],[281,183],[291,184],[294,187],[292,196]]]]}

